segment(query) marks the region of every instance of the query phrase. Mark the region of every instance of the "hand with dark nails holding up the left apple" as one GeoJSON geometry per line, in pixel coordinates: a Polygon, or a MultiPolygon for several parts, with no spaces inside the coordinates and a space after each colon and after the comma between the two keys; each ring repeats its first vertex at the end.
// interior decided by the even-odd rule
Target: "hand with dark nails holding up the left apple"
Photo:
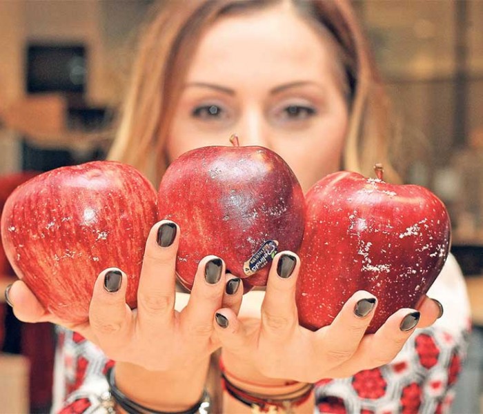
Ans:
{"type": "Polygon", "coordinates": [[[89,320],[69,324],[48,313],[21,281],[8,291],[14,314],[23,322],[52,322],[77,331],[94,342],[116,362],[128,362],[150,371],[179,370],[206,359],[219,348],[213,334],[213,318],[219,308],[239,310],[243,289],[226,293],[239,286],[239,279],[225,274],[224,262],[208,256],[201,260],[190,295],[175,292],[175,264],[179,227],[170,240],[170,221],[152,227],[137,292],[137,309],[126,304],[126,275],[117,268],[103,270],[95,282],[90,302],[89,320]],[[162,228],[161,228],[162,226],[162,228]],[[157,243],[158,229],[168,246],[157,243]],[[120,274],[119,274],[120,273],[120,274]],[[235,280],[232,280],[235,279],[235,280]],[[175,309],[176,302],[186,306],[175,309]],[[178,300],[180,299],[180,300],[178,300]]]}

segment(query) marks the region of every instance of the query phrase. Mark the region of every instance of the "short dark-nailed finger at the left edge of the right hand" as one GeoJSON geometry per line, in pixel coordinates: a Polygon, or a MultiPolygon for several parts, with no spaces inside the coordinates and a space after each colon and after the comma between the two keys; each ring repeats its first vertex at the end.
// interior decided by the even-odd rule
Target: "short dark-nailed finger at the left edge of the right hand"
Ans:
{"type": "Polygon", "coordinates": [[[248,352],[248,335],[244,325],[231,309],[219,309],[215,313],[213,325],[223,348],[235,355],[244,355],[248,352]]]}

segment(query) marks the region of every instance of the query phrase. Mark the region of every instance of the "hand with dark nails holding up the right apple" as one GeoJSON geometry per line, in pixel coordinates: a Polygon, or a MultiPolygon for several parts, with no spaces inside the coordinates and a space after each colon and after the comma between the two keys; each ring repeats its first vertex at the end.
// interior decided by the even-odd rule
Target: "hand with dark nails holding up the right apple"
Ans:
{"type": "Polygon", "coordinates": [[[273,379],[317,382],[349,377],[391,362],[416,325],[429,326],[441,313],[440,305],[426,297],[419,312],[400,309],[376,333],[364,335],[377,304],[373,295],[359,291],[331,325],[309,331],[298,324],[298,271],[295,254],[279,253],[264,296],[262,292],[245,295],[238,317],[227,308],[217,312],[215,326],[229,373],[258,384],[280,382],[273,379]]]}

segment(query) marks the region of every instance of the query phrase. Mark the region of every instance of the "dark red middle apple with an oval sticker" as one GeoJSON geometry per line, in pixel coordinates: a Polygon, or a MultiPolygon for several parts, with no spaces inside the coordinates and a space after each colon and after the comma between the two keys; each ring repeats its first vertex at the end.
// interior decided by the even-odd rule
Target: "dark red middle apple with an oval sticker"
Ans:
{"type": "Polygon", "coordinates": [[[186,152],[161,179],[159,218],[180,226],[176,270],[188,289],[206,255],[224,259],[246,290],[264,286],[277,251],[302,242],[304,194],[293,171],[267,148],[232,144],[186,152]]]}

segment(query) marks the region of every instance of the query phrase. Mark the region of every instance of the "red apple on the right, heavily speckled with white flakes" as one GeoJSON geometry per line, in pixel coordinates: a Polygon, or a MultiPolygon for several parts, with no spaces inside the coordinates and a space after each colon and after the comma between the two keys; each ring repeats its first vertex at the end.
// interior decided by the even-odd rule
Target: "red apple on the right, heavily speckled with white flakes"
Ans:
{"type": "Polygon", "coordinates": [[[379,301],[373,333],[400,308],[417,308],[449,251],[449,215],[431,191],[335,172],[306,194],[297,308],[302,326],[330,324],[357,290],[379,301]]]}

